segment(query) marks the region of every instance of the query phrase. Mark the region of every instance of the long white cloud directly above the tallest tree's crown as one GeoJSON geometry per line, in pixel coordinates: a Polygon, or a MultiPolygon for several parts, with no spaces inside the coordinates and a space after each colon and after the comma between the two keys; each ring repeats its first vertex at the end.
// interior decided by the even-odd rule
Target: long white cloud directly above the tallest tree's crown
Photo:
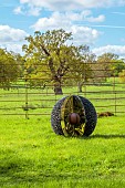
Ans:
{"type": "Polygon", "coordinates": [[[73,24],[81,24],[84,21],[91,22],[103,22],[105,20],[104,15],[98,15],[96,18],[92,17],[92,12],[90,10],[85,10],[82,12],[53,12],[50,18],[40,18],[31,28],[34,30],[52,30],[55,28],[70,28],[73,24]]]}

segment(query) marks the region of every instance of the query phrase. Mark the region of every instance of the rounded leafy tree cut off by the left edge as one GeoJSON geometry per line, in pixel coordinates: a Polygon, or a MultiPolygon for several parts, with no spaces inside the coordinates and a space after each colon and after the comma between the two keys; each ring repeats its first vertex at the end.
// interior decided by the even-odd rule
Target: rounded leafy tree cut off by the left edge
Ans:
{"type": "Polygon", "coordinates": [[[19,66],[14,56],[0,49],[0,87],[9,90],[11,83],[17,81],[19,76],[19,66]]]}

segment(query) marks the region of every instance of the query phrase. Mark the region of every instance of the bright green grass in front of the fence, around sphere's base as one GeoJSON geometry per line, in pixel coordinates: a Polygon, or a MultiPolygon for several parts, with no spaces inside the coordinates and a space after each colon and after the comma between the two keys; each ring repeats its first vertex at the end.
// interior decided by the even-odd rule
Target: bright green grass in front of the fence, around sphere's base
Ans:
{"type": "Polygon", "coordinates": [[[125,117],[98,118],[88,138],[69,138],[50,116],[1,116],[0,187],[124,188],[125,117]]]}

